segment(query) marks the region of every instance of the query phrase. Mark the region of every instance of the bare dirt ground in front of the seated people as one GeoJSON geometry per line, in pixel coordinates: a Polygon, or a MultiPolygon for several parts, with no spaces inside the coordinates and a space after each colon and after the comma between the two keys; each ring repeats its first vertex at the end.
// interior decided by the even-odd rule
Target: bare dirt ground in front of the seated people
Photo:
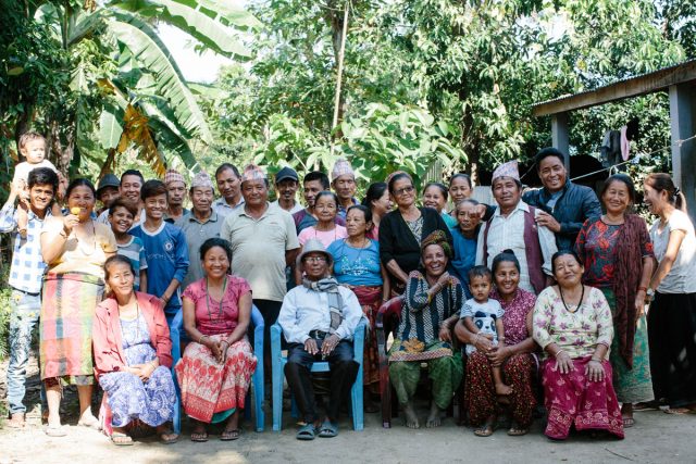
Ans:
{"type": "MultiPolygon", "coordinates": [[[[4,383],[7,365],[0,365],[4,383]]],[[[481,463],[696,463],[696,416],[668,415],[660,411],[636,413],[636,425],[626,430],[624,440],[599,439],[574,435],[566,442],[551,442],[542,434],[537,421],[525,437],[508,437],[505,429],[489,438],[478,438],[468,427],[459,427],[452,418],[437,429],[411,430],[395,418],[393,428],[382,428],[378,414],[365,414],[365,429],[353,431],[347,418],[340,434],[333,439],[318,438],[310,442],[295,439],[295,425],[284,413],[282,432],[271,430],[270,411],[266,431],[257,434],[245,424],[237,441],[222,442],[211,434],[207,443],[188,439],[189,428],[178,443],[164,446],[154,438],[139,439],[133,447],[116,448],[101,432],[76,424],[75,394],[66,392],[69,435],[49,438],[40,425],[38,376],[36,364],[30,365],[28,426],[21,431],[0,429],[0,464],[4,463],[87,463],[101,459],[127,463],[299,463],[309,460],[324,462],[472,462],[481,463]]],[[[0,384],[0,398],[4,397],[0,384]]],[[[3,400],[4,401],[4,400],[3,400]]],[[[97,411],[97,410],[95,410],[97,411]]],[[[420,414],[424,419],[425,405],[420,414]]],[[[1,426],[0,426],[1,427],[1,426]]]]}

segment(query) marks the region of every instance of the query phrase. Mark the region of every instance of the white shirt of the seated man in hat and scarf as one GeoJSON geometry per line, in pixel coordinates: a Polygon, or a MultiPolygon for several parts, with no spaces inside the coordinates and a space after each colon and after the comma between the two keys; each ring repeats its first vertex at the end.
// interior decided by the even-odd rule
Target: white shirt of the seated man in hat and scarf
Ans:
{"type": "MultiPolygon", "coordinates": [[[[352,290],[339,286],[338,293],[344,302],[344,319],[336,329],[336,335],[341,340],[350,340],[362,317],[362,309],[352,290]]],[[[328,331],[328,293],[310,290],[302,285],[295,287],[283,299],[278,324],[288,343],[304,343],[310,338],[311,330],[328,331]]]]}

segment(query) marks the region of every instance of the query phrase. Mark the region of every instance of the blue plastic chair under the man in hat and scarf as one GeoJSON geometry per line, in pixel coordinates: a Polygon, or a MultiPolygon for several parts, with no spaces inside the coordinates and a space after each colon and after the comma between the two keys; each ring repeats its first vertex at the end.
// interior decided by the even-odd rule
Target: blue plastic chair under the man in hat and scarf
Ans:
{"type": "MultiPolygon", "coordinates": [[[[276,323],[271,326],[271,363],[273,366],[273,431],[279,431],[283,421],[283,378],[285,376],[285,364],[287,356],[281,351],[281,337],[283,329],[276,323]]],[[[350,402],[352,403],[352,428],[362,430],[364,418],[362,411],[362,359],[365,340],[365,318],[360,319],[353,336],[353,360],[360,366],[356,383],[350,389],[350,402]]],[[[312,372],[330,372],[327,361],[319,361],[312,364],[312,372]]],[[[294,416],[297,416],[297,407],[293,401],[294,416]]]]}

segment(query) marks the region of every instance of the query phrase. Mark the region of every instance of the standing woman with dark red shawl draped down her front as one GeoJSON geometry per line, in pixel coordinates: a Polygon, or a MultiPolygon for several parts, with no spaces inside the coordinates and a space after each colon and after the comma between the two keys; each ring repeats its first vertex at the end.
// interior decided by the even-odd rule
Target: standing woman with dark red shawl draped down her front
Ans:
{"type": "Polygon", "coordinates": [[[604,292],[613,315],[609,359],[626,427],[635,422],[633,403],[652,399],[645,297],[654,253],[645,221],[630,213],[635,196],[629,176],[609,177],[600,195],[606,214],[585,222],[575,243],[585,284],[604,292]]]}

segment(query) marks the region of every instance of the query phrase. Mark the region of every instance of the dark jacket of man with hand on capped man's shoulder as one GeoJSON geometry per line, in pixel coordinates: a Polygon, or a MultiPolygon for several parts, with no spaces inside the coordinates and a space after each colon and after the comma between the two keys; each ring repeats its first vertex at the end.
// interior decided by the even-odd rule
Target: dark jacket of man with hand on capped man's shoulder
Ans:
{"type": "Polygon", "coordinates": [[[566,180],[566,187],[552,210],[546,205],[550,198],[545,188],[529,190],[522,196],[526,204],[549,213],[560,223],[561,231],[556,234],[558,249],[572,250],[583,223],[591,217],[601,216],[599,199],[589,187],[570,180],[566,180]]]}

